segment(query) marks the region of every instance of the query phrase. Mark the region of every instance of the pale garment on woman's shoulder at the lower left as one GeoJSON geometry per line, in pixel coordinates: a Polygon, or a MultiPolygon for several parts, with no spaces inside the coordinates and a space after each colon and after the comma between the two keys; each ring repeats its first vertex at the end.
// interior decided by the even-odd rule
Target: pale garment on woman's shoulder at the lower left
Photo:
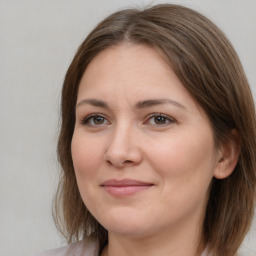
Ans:
{"type": "Polygon", "coordinates": [[[96,241],[85,240],[67,246],[39,253],[35,256],[97,256],[99,253],[96,241]]]}

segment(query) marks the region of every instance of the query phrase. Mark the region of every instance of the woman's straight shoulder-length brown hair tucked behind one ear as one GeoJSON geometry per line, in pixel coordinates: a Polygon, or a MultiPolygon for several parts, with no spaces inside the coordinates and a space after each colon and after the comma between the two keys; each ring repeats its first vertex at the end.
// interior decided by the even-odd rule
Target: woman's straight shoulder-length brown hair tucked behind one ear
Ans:
{"type": "Polygon", "coordinates": [[[203,15],[179,5],[116,12],[98,24],[79,47],[62,90],[57,227],[69,243],[88,234],[99,238],[101,245],[107,243],[107,231],[79,194],[71,140],[78,86],[86,67],[99,52],[122,42],[148,44],[161,52],[207,114],[217,146],[229,139],[232,129],[238,131],[238,164],[228,178],[213,179],[202,230],[202,240],[213,255],[234,255],[249,230],[255,207],[254,102],[239,58],[225,35],[203,15]]]}

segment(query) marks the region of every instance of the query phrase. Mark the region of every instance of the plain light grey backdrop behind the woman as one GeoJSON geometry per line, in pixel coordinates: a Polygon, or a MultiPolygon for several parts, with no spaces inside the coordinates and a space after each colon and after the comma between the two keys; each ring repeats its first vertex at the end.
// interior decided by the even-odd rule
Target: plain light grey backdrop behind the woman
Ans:
{"type": "MultiPolygon", "coordinates": [[[[63,245],[51,215],[60,91],[88,32],[123,7],[178,3],[229,37],[256,90],[255,0],[0,0],[0,256],[63,245]]],[[[256,252],[253,224],[243,248],[256,252]]]]}

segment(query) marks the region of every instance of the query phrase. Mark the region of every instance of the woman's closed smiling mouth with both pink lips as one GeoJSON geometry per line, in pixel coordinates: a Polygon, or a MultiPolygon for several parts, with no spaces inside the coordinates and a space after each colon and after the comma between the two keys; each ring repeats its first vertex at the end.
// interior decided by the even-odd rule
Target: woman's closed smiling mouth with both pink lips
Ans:
{"type": "Polygon", "coordinates": [[[134,195],[138,192],[153,187],[154,184],[143,181],[123,179],[123,180],[107,180],[101,184],[101,187],[112,196],[124,197],[134,195]]]}

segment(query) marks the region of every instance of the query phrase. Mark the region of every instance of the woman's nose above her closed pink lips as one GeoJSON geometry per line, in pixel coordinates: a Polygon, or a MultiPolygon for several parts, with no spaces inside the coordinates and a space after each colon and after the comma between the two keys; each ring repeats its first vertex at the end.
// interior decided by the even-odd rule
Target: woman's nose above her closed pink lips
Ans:
{"type": "Polygon", "coordinates": [[[124,125],[113,130],[104,155],[107,164],[124,168],[138,165],[142,161],[142,151],[135,130],[124,125]]]}

